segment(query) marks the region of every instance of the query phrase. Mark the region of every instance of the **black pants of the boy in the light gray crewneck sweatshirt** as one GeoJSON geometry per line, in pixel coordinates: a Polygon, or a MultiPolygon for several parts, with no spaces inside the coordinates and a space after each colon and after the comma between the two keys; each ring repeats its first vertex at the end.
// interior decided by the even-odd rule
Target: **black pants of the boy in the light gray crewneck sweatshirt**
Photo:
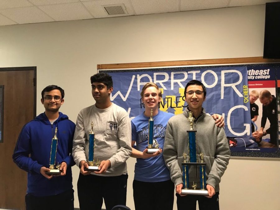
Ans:
{"type": "Polygon", "coordinates": [[[107,210],[126,204],[128,175],[79,175],[77,189],[81,210],[100,210],[103,198],[107,210]]]}

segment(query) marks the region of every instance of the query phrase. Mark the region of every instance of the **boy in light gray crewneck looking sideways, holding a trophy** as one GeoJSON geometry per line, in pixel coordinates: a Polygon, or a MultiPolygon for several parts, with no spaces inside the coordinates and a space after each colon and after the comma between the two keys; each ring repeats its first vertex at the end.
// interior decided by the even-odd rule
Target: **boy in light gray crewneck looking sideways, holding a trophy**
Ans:
{"type": "Polygon", "coordinates": [[[110,101],[112,77],[98,73],[91,77],[96,103],[80,111],[77,117],[72,155],[80,175],[77,183],[81,210],[100,210],[103,199],[107,210],[126,204],[127,166],[131,149],[131,124],[128,113],[110,101]],[[94,159],[99,171],[86,171],[89,158],[89,133],[93,122],[94,159]]]}

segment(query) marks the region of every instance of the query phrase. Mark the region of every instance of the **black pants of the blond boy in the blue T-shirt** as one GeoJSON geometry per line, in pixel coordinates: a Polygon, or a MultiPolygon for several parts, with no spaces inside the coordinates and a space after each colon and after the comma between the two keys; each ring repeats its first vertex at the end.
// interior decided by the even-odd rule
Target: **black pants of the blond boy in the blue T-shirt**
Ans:
{"type": "Polygon", "coordinates": [[[135,210],[173,210],[174,183],[133,180],[135,210]]]}

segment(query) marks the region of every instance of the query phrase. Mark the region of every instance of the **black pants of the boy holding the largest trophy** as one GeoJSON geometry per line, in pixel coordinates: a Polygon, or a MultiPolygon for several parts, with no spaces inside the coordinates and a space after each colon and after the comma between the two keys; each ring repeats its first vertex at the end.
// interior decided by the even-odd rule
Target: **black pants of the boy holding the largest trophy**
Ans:
{"type": "Polygon", "coordinates": [[[212,198],[206,198],[203,195],[180,196],[176,193],[178,210],[196,210],[196,201],[198,201],[199,210],[219,210],[219,192],[216,192],[212,198]]]}

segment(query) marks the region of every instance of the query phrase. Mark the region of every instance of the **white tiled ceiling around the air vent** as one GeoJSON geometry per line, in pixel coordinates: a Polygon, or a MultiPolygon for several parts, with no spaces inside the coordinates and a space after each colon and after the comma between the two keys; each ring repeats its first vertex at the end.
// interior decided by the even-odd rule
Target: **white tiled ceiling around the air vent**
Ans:
{"type": "Polygon", "coordinates": [[[0,26],[239,7],[280,0],[0,0],[0,26]],[[103,5],[122,4],[109,15],[103,5]]]}

